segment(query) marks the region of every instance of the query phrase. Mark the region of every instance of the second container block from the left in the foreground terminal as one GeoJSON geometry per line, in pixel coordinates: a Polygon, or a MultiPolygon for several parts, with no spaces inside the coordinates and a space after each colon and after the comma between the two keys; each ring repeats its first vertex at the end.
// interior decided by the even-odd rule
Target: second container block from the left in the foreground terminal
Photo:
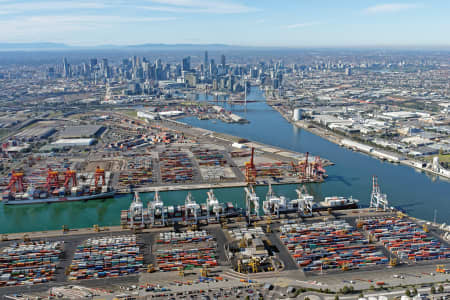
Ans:
{"type": "Polygon", "coordinates": [[[143,265],[144,256],[135,235],[88,239],[75,251],[69,280],[134,274],[143,265]]]}

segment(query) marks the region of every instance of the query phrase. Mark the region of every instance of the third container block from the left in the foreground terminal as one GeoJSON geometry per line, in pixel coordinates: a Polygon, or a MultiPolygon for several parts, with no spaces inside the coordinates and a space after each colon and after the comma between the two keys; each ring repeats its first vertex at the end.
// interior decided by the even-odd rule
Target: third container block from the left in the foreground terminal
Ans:
{"type": "Polygon", "coordinates": [[[156,261],[161,272],[176,271],[180,268],[217,266],[217,244],[206,230],[189,232],[164,232],[157,239],[159,245],[178,245],[180,248],[164,248],[156,250],[156,261]],[[207,243],[205,246],[199,243],[207,243]],[[196,247],[203,246],[203,247],[196,247]]]}

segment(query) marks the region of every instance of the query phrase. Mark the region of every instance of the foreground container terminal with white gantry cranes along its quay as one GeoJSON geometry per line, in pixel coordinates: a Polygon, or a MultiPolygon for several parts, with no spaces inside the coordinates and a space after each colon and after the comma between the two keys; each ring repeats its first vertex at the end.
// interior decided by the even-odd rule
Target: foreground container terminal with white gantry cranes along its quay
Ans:
{"type": "Polygon", "coordinates": [[[345,283],[365,293],[450,278],[450,228],[391,207],[376,178],[369,208],[339,197],[322,207],[302,188],[293,200],[272,189],[263,200],[252,190],[243,189],[243,209],[219,202],[213,190],[204,205],[188,196],[173,208],[157,192],[145,206],[136,192],[120,227],[3,235],[0,294],[48,296],[76,286],[104,297],[129,286],[156,297],[205,286],[263,292],[267,283],[322,293],[345,283]]]}

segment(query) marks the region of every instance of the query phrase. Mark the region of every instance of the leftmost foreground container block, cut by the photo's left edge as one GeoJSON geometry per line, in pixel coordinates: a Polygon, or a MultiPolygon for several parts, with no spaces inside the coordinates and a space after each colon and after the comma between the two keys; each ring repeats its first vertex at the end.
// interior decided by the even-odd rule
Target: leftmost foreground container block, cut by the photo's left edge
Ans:
{"type": "Polygon", "coordinates": [[[0,286],[32,285],[52,280],[63,252],[62,242],[14,244],[0,253],[0,286]]]}

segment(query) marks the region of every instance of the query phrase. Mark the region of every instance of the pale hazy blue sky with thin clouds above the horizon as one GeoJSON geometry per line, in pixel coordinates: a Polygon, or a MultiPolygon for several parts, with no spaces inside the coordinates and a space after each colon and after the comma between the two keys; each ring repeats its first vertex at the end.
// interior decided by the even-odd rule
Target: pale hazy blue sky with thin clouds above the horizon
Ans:
{"type": "Polygon", "coordinates": [[[0,42],[450,45],[450,0],[0,0],[0,42]]]}

